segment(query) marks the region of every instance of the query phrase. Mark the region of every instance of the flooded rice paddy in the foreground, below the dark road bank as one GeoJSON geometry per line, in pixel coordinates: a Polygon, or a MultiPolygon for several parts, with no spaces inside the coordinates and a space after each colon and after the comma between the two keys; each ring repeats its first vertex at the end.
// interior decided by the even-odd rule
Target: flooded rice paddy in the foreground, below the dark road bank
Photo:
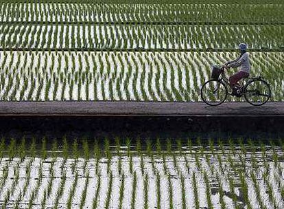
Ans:
{"type": "Polygon", "coordinates": [[[283,208],[284,140],[0,142],[1,208],[283,208]]]}

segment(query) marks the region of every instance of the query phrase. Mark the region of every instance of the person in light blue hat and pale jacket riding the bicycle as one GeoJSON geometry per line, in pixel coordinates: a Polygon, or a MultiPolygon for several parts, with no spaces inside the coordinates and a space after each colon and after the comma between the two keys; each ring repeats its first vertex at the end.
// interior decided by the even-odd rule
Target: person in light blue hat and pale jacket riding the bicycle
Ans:
{"type": "Polygon", "coordinates": [[[241,78],[247,78],[250,75],[250,58],[248,56],[248,52],[246,52],[248,46],[245,43],[239,44],[239,52],[240,55],[238,58],[236,58],[233,61],[229,61],[225,63],[225,68],[235,68],[239,67],[239,72],[234,74],[233,76],[230,76],[230,87],[233,89],[232,95],[233,96],[239,96],[237,93],[237,90],[239,89],[238,81],[241,80],[241,78]]]}

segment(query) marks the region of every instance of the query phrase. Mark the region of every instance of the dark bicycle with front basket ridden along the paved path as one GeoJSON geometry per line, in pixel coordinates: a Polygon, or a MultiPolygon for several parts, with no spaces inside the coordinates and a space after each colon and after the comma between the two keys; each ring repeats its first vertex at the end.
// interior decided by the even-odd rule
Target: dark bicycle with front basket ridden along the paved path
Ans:
{"type": "MultiPolygon", "coordinates": [[[[225,67],[221,67],[218,78],[206,81],[200,90],[203,102],[210,106],[217,106],[225,102],[228,94],[232,95],[233,89],[225,76],[225,67]],[[228,92],[230,90],[230,93],[228,92]]],[[[242,78],[241,85],[237,87],[237,97],[244,96],[246,101],[254,106],[261,106],[268,102],[271,97],[270,85],[261,77],[242,78]],[[246,80],[246,82],[245,82],[246,80]]]]}

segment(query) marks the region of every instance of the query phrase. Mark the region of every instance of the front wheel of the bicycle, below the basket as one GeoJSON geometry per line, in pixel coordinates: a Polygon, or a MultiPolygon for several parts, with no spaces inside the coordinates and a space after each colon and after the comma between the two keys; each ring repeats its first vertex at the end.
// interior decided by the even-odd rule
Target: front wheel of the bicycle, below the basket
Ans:
{"type": "Polygon", "coordinates": [[[226,100],[228,89],[219,80],[208,80],[202,86],[200,94],[203,102],[211,106],[217,106],[226,100]]]}

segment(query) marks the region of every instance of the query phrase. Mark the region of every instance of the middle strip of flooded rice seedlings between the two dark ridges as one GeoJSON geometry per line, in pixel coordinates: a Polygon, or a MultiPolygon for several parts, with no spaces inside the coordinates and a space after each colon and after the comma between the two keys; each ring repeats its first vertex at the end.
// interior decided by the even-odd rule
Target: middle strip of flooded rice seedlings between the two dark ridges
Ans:
{"type": "Polygon", "coordinates": [[[250,49],[281,47],[282,25],[16,25],[0,26],[2,48],[250,49]],[[243,31],[246,31],[244,36],[243,31]],[[234,32],[235,36],[230,36],[234,32]],[[218,33],[219,36],[215,36],[218,33]],[[32,34],[32,35],[31,35],[32,34]],[[108,36],[105,36],[108,34],[108,36]],[[204,36],[207,34],[207,36],[204,36]],[[273,34],[273,39],[270,34],[273,34]],[[12,39],[10,38],[12,37],[12,39]],[[45,39],[45,37],[47,39],[45,39]],[[65,37],[65,39],[64,39],[65,37]],[[59,40],[58,40],[59,39],[59,40]]]}

